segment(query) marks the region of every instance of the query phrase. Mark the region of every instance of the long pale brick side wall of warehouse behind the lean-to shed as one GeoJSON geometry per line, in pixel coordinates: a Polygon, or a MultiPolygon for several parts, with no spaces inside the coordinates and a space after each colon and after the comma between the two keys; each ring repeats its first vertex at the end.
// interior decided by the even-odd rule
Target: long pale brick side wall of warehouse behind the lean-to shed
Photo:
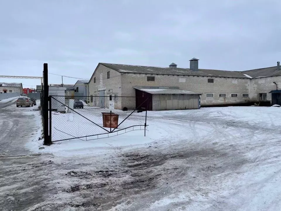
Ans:
{"type": "Polygon", "coordinates": [[[221,105],[251,102],[249,94],[250,79],[219,78],[203,76],[172,76],[172,75],[146,75],[146,74],[123,74],[122,94],[134,96],[134,86],[177,86],[180,89],[201,93],[201,105],[221,105]],[[147,81],[147,76],[155,76],[155,81],[147,81]],[[214,79],[214,83],[208,83],[208,79],[214,79]],[[206,94],[212,93],[213,97],[207,98],[206,94]],[[219,94],[226,94],[225,98],[219,94]],[[238,94],[231,97],[231,94],[238,94]]]}

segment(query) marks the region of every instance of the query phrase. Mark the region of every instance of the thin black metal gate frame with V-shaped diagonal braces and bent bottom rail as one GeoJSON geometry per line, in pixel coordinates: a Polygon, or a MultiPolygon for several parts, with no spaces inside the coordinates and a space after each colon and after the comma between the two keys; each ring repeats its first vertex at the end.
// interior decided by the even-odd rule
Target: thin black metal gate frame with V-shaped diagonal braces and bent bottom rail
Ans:
{"type": "MultiPolygon", "coordinates": [[[[56,97],[64,97],[64,96],[56,96],[56,97]]],[[[99,96],[99,97],[105,97],[105,96],[99,96]]],[[[139,110],[140,106],[143,105],[143,103],[145,103],[149,98],[147,98],[145,101],[143,101],[135,110],[133,110],[123,121],[120,122],[120,124],[118,124],[113,130],[111,130],[111,127],[110,127],[110,130],[107,130],[105,129],[104,127],[101,127],[100,125],[96,124],[95,122],[89,120],[88,118],[86,118],[85,116],[83,116],[82,114],[76,112],[74,109],[66,106],[66,104],[64,103],[61,103],[60,101],[58,101],[56,98],[54,98],[54,96],[49,96],[49,139],[51,142],[59,142],[59,141],[65,141],[65,140],[71,140],[71,139],[81,139],[81,138],[87,138],[87,137],[91,137],[91,136],[97,136],[97,139],[98,138],[98,135],[105,135],[105,134],[108,134],[107,137],[109,137],[109,134],[110,133],[113,133],[113,132],[117,132],[117,135],[118,135],[118,131],[122,131],[122,130],[125,130],[125,133],[126,133],[126,129],[128,128],[131,128],[131,127],[136,127],[136,126],[144,126],[144,136],[145,136],[145,130],[146,130],[146,127],[149,126],[146,124],[146,119],[147,119],[147,109],[145,110],[145,124],[144,125],[132,125],[130,127],[126,127],[126,128],[123,128],[121,130],[118,130],[118,131],[115,131],[115,129],[117,129],[129,116],[131,116],[136,110],[139,110]],[[91,123],[95,124],[96,126],[102,128],[103,130],[105,130],[106,132],[105,133],[100,133],[100,134],[95,134],[95,135],[87,135],[87,136],[81,136],[81,137],[74,137],[73,135],[70,135],[70,134],[67,134],[67,135],[70,135],[72,136],[73,138],[68,138],[68,139],[61,139],[61,140],[55,140],[55,141],[52,141],[52,100],[55,100],[57,101],[58,103],[62,104],[63,106],[65,106],[66,108],[72,110],[74,113],[77,113],[78,115],[82,116],[83,118],[85,118],[86,120],[90,121],[91,123]]],[[[110,111],[110,120],[111,120],[111,111],[110,111]]],[[[58,130],[58,129],[56,129],[58,130]]],[[[141,130],[141,129],[140,129],[141,130]]],[[[58,130],[60,132],[63,132],[61,130],[58,130]]],[[[63,132],[65,133],[65,132],[63,132]]],[[[114,135],[116,136],[116,135],[114,135]]],[[[111,136],[112,137],[112,136],[111,136]]],[[[90,139],[92,140],[92,139],[90,139]]]]}

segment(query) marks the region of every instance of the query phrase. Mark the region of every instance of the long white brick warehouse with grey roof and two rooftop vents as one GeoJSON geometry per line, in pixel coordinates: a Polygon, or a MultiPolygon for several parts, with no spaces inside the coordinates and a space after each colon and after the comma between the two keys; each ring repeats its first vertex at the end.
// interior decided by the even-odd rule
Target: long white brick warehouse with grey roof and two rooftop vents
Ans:
{"type": "MultiPolygon", "coordinates": [[[[259,101],[271,103],[269,92],[276,89],[273,82],[281,87],[278,64],[275,67],[239,72],[198,69],[198,59],[195,58],[191,59],[191,68],[177,68],[174,63],[170,67],[99,63],[89,81],[89,91],[92,96],[100,96],[103,93],[101,91],[104,91],[104,96],[135,96],[134,87],[165,86],[201,93],[202,106],[259,101]]],[[[134,101],[119,100],[121,108],[136,106],[134,101]]]]}

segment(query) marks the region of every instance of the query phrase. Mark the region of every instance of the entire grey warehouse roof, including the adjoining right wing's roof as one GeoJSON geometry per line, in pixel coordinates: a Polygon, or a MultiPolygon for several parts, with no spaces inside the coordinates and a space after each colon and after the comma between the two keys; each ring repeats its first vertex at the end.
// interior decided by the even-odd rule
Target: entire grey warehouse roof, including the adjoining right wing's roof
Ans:
{"type": "Polygon", "coordinates": [[[190,70],[189,68],[150,67],[150,66],[109,64],[109,63],[100,63],[100,64],[110,69],[113,69],[119,73],[134,73],[134,74],[209,76],[209,77],[247,78],[247,79],[281,75],[281,70],[277,71],[276,66],[241,71],[241,72],[215,70],[215,69],[198,69],[198,71],[195,72],[190,70]]]}

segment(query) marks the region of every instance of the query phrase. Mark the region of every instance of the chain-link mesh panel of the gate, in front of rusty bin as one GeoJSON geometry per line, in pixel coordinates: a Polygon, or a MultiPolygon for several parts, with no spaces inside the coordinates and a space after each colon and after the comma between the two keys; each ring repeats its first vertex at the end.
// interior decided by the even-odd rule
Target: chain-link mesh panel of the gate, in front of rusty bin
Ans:
{"type": "Polygon", "coordinates": [[[147,127],[146,111],[145,115],[139,114],[141,105],[134,110],[124,107],[128,102],[135,103],[135,97],[84,96],[83,99],[89,100],[50,96],[49,130],[52,142],[99,139],[132,130],[145,131],[147,127]]]}

